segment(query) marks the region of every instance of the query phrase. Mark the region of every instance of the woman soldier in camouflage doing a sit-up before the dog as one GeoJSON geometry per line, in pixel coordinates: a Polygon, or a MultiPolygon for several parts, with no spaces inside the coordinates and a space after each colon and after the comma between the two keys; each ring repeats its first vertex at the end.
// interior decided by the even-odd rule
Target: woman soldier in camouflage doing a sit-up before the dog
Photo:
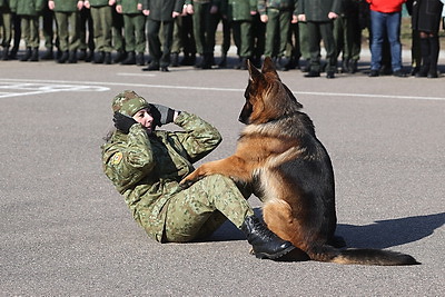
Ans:
{"type": "Polygon", "coordinates": [[[102,146],[103,171],[152,239],[199,239],[228,218],[246,234],[258,258],[277,259],[295,248],[255,217],[246,200],[250,194],[243,195],[230,178],[214,175],[189,188],[179,185],[192,164],[221,141],[215,127],[189,112],[150,105],[134,91],[116,96],[112,110],[117,130],[102,146]],[[155,130],[169,122],[184,131],[155,130]]]}

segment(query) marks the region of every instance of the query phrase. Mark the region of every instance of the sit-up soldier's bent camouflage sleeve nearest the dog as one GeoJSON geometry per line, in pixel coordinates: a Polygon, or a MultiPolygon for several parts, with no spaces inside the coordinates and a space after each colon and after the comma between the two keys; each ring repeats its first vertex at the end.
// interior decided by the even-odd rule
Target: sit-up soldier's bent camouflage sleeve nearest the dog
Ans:
{"type": "Polygon", "coordinates": [[[175,123],[185,130],[185,132],[178,132],[177,136],[190,162],[196,162],[207,156],[222,140],[219,131],[198,116],[182,111],[175,123]]]}

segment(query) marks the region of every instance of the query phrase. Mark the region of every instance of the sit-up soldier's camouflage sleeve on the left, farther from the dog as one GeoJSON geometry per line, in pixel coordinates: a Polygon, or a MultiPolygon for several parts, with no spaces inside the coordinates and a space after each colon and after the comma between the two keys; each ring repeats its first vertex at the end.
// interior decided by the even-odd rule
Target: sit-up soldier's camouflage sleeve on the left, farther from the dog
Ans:
{"type": "Polygon", "coordinates": [[[154,155],[147,132],[134,125],[126,141],[105,145],[102,148],[103,171],[121,194],[155,167],[154,155]]]}

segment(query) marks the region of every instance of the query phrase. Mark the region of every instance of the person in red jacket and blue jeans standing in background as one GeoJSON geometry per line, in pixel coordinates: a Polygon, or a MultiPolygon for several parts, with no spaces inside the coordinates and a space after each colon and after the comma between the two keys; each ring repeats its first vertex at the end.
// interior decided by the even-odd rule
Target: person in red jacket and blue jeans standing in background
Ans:
{"type": "Polygon", "coordinates": [[[378,77],[382,65],[382,46],[387,36],[390,48],[393,75],[406,77],[402,67],[400,20],[402,4],[406,0],[366,0],[370,9],[370,73],[378,77]]]}

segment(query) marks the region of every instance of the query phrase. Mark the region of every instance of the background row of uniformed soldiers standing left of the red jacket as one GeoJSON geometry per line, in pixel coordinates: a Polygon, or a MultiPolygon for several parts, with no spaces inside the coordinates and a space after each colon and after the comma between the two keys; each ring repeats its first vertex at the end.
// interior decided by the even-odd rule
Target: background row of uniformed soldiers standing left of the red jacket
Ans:
{"type": "MultiPolygon", "coordinates": [[[[16,58],[23,38],[23,61],[56,59],[60,63],[86,60],[145,66],[148,43],[150,63],[142,70],[168,71],[167,66],[180,65],[210,69],[215,65],[227,66],[233,39],[239,57],[237,69],[245,69],[247,59],[259,66],[261,58],[269,56],[278,70],[301,66],[303,71],[308,71],[310,36],[307,23],[296,17],[305,2],[306,7],[320,4],[337,12],[332,20],[336,46],[330,59],[342,60],[342,71],[356,72],[362,30],[369,28],[365,0],[0,0],[2,60],[16,58]],[[40,18],[47,48],[41,57],[40,18]],[[216,63],[218,28],[222,29],[221,53],[216,63]],[[300,60],[305,63],[300,65],[300,60]]],[[[389,55],[384,57],[390,59],[389,55]]],[[[418,58],[414,61],[419,63],[418,58]]],[[[383,72],[388,62],[384,59],[383,72]]]]}

